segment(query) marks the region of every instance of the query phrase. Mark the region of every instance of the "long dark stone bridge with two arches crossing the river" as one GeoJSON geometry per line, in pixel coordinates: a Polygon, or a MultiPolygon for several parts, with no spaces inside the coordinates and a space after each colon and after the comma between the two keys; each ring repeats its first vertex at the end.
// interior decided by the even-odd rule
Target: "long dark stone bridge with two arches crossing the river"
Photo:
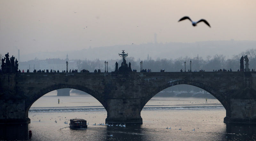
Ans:
{"type": "Polygon", "coordinates": [[[142,123],[140,112],[156,93],[194,85],[226,109],[225,123],[256,123],[256,72],[0,73],[0,124],[29,123],[28,110],[44,94],[73,88],[107,110],[108,123],[142,123]]]}

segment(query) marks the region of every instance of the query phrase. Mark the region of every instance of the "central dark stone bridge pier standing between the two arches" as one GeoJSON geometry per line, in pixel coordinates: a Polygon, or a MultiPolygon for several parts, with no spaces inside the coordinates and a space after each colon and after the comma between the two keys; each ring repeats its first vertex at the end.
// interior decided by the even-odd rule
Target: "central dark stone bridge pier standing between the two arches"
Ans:
{"type": "Polygon", "coordinates": [[[106,123],[142,124],[140,99],[108,99],[106,123]]]}

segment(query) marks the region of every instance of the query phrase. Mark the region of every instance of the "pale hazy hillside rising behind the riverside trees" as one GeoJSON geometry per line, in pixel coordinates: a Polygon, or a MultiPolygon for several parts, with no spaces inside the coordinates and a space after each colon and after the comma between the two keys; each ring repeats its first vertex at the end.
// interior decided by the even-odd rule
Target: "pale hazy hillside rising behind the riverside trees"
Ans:
{"type": "Polygon", "coordinates": [[[47,58],[65,59],[68,54],[69,59],[120,59],[118,53],[125,50],[129,57],[134,57],[135,60],[145,60],[149,54],[152,59],[176,59],[180,56],[196,57],[197,54],[206,58],[221,54],[231,58],[233,55],[238,55],[242,51],[249,48],[255,48],[256,41],[200,41],[193,43],[169,42],[169,43],[147,43],[147,44],[131,44],[131,45],[116,45],[108,47],[95,47],[82,50],[57,51],[57,52],[37,52],[20,56],[22,61],[47,58]]]}

